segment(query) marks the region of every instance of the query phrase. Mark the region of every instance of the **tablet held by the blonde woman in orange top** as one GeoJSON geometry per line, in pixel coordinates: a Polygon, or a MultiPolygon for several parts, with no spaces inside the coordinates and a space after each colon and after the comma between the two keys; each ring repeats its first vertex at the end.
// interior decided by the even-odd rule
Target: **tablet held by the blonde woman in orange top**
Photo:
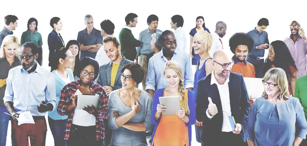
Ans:
{"type": "Polygon", "coordinates": [[[164,96],[159,97],[160,105],[166,106],[167,111],[162,112],[162,115],[176,115],[180,110],[179,96],[164,96]]]}

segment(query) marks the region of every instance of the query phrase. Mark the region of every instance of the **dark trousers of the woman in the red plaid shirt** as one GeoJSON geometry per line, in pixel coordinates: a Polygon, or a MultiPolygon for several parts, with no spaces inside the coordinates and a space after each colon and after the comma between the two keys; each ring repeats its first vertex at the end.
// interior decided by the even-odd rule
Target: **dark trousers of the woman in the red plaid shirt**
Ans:
{"type": "Polygon", "coordinates": [[[66,142],[68,146],[101,146],[103,139],[96,139],[96,126],[83,127],[72,124],[70,137],[66,142]]]}

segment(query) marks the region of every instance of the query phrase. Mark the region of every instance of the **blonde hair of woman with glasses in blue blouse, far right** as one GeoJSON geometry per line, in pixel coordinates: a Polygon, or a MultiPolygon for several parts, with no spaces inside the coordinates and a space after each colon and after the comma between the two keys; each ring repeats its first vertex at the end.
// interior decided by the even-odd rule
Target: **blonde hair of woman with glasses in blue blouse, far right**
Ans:
{"type": "MultiPolygon", "coordinates": [[[[288,96],[290,96],[289,90],[288,90],[288,80],[286,72],[283,71],[281,68],[272,68],[269,69],[263,80],[268,81],[272,80],[273,82],[276,82],[277,86],[279,87],[279,93],[277,95],[277,99],[284,99],[288,100],[288,96]]],[[[262,96],[266,99],[268,98],[268,94],[266,90],[262,93],[262,96]]]]}

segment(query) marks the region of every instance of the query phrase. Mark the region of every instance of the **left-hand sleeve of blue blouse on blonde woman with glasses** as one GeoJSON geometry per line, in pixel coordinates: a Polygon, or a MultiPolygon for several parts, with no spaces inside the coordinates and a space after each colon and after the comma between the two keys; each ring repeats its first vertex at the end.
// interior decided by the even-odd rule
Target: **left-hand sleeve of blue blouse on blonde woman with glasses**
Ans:
{"type": "Polygon", "coordinates": [[[248,120],[247,120],[247,124],[246,124],[246,127],[245,127],[245,136],[246,136],[246,139],[248,140],[252,140],[254,141],[255,139],[255,122],[256,122],[256,119],[257,119],[257,110],[258,110],[258,100],[255,100],[253,106],[252,106],[252,109],[251,109],[251,112],[249,114],[249,117],[248,117],[248,120]]]}

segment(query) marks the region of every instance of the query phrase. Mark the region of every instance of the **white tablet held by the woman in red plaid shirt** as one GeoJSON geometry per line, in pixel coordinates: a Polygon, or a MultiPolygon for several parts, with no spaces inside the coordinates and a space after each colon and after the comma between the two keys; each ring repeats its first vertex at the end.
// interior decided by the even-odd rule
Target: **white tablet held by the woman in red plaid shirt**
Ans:
{"type": "Polygon", "coordinates": [[[78,95],[77,99],[77,107],[76,109],[81,109],[86,106],[93,105],[96,109],[98,109],[98,94],[82,94],[78,95]]]}

